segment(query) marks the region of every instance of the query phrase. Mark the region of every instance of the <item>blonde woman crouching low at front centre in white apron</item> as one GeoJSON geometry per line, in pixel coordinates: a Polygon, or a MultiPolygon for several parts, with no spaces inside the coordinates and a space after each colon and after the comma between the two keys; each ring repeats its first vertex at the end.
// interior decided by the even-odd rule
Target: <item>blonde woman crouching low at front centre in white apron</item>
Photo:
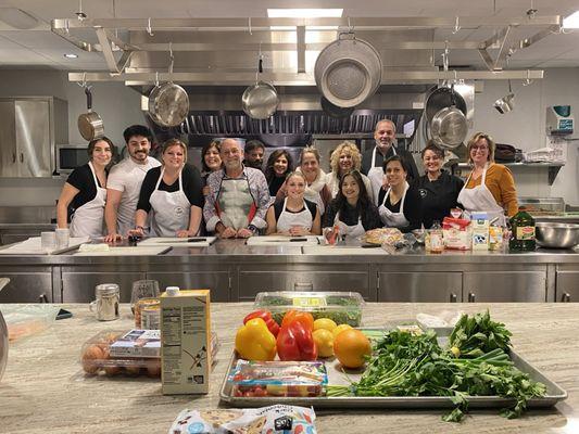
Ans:
{"type": "Polygon", "coordinates": [[[317,205],[304,199],[305,176],[294,171],[286,180],[287,197],[267,209],[267,235],[319,235],[322,224],[317,205]]]}

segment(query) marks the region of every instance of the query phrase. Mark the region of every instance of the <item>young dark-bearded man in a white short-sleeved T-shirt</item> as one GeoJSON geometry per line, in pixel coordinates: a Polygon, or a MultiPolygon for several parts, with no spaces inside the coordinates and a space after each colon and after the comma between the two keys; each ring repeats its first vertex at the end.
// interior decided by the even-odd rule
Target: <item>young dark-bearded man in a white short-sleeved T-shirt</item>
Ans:
{"type": "Polygon", "coordinates": [[[152,140],[149,128],[133,125],[125,129],[123,136],[128,156],[113,166],[106,181],[104,219],[108,235],[104,238],[105,242],[127,237],[128,231],[135,227],[135,212],[144,175],[149,169],[161,165],[155,158],[149,156],[152,140]]]}

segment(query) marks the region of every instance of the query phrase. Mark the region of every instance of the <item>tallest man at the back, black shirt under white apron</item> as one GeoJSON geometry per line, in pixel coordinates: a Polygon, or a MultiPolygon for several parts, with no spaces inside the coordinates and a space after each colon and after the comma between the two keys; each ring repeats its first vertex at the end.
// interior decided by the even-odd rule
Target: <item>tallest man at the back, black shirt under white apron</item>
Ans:
{"type": "Polygon", "coordinates": [[[386,159],[392,155],[400,155],[404,159],[408,168],[408,183],[414,179],[418,179],[419,175],[412,154],[406,150],[395,146],[397,125],[392,120],[378,120],[374,129],[374,140],[376,145],[362,154],[362,173],[369,178],[372,189],[375,193],[374,200],[377,203],[378,194],[383,184],[385,174],[382,164],[386,159]]]}

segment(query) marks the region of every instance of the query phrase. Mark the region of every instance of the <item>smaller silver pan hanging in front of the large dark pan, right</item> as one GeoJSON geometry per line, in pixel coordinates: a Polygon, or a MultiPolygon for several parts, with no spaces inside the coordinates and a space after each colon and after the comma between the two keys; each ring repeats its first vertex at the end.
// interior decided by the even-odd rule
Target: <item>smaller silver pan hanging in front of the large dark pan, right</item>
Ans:
{"type": "Polygon", "coordinates": [[[435,143],[442,149],[453,150],[466,138],[468,127],[464,113],[456,107],[454,85],[451,87],[452,105],[440,110],[430,123],[430,135],[435,143]]]}

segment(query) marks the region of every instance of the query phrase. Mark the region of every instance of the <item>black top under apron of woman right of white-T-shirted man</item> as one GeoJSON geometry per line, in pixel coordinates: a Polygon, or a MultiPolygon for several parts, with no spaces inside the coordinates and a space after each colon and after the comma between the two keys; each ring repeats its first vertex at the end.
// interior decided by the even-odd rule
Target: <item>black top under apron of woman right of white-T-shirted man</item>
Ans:
{"type": "MultiPolygon", "coordinates": [[[[161,177],[162,166],[153,167],[150,169],[141,186],[141,192],[139,193],[139,203],[137,204],[137,209],[142,209],[147,213],[151,210],[151,194],[155,190],[156,181],[161,177]]],[[[190,164],[186,164],[181,173],[182,178],[182,190],[185,195],[189,200],[191,205],[197,205],[200,208],[203,207],[203,179],[199,169],[190,164]]],[[[179,179],[177,178],[175,182],[171,186],[167,186],[163,180],[159,184],[159,190],[166,191],[168,193],[174,193],[179,190],[179,179]]]]}

